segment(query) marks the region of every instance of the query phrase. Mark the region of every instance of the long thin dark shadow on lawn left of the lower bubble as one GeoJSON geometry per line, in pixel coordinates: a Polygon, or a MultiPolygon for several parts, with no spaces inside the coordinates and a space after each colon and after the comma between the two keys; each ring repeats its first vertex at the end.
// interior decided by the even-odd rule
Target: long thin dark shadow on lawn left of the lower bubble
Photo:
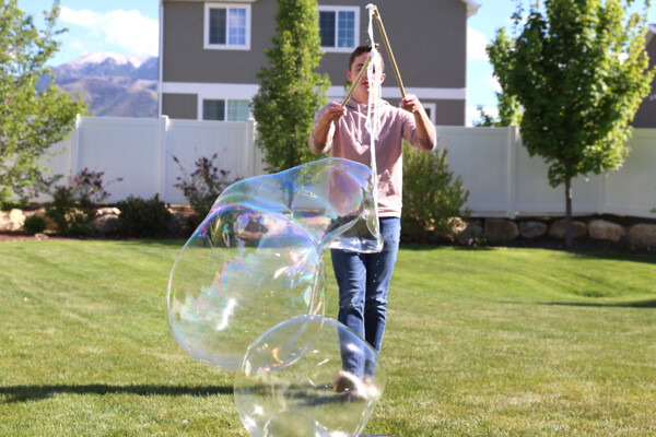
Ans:
{"type": "Polygon", "coordinates": [[[54,394],[139,394],[139,395],[191,395],[210,397],[215,394],[232,394],[232,387],[202,386],[108,386],[90,383],[81,386],[9,386],[0,387],[0,397],[5,397],[2,403],[25,402],[34,399],[47,399],[54,394]]]}

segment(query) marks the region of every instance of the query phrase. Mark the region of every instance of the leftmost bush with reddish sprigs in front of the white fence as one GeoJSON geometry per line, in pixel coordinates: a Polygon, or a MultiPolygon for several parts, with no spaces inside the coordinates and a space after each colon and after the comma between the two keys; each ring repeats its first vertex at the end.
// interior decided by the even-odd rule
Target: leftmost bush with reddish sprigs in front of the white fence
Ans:
{"type": "MultiPolygon", "coordinates": [[[[46,215],[55,223],[61,235],[89,235],[95,218],[95,203],[109,197],[103,186],[104,172],[84,168],[75,177],[69,178],[68,186],[59,186],[52,193],[52,203],[46,215]]],[[[121,178],[115,179],[122,180],[121,178]]]]}

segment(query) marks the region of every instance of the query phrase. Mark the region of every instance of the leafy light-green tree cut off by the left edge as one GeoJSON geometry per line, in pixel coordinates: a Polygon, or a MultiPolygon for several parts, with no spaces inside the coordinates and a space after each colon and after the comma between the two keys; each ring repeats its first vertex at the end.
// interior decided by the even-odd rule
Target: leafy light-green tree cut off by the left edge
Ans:
{"type": "MultiPolygon", "coordinates": [[[[59,48],[55,39],[59,1],[44,12],[46,28],[39,31],[32,15],[16,0],[0,0],[0,204],[15,199],[26,201],[48,184],[39,161],[48,147],[62,140],[74,127],[77,114],[86,105],[52,84],[54,73],[46,62],[59,48]],[[36,84],[50,78],[45,91],[36,84]]],[[[51,178],[50,178],[51,180],[51,178]]]]}

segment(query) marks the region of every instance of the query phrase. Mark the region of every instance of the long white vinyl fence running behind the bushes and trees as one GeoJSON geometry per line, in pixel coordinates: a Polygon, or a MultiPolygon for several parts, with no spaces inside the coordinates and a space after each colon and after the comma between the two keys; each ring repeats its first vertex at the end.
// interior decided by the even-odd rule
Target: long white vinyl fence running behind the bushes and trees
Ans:
{"type": "MultiPolygon", "coordinates": [[[[547,165],[528,156],[517,128],[438,127],[437,134],[440,146],[446,143],[449,168],[469,190],[472,216],[564,213],[564,188],[549,186],[547,165]]],[[[261,175],[254,137],[253,121],[82,117],[71,138],[54,146],[61,153],[44,165],[65,176],[86,167],[104,172],[106,181],[122,178],[107,186],[108,202],[159,193],[167,203],[185,204],[174,187],[180,176],[174,156],[191,172],[198,157],[216,153],[231,178],[261,175]]],[[[656,208],[656,129],[636,129],[630,146],[620,170],[574,180],[575,214],[656,217],[651,212],[656,208]]]]}

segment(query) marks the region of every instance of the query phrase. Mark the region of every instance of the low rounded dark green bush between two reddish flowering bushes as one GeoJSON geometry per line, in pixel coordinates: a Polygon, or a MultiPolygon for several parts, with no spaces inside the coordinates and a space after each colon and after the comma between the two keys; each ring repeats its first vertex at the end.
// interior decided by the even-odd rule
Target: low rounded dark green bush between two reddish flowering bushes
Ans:
{"type": "Polygon", "coordinates": [[[155,194],[150,200],[130,196],[125,201],[118,202],[120,210],[118,216],[119,232],[129,237],[162,237],[167,234],[167,225],[172,214],[166,203],[155,194]]]}

